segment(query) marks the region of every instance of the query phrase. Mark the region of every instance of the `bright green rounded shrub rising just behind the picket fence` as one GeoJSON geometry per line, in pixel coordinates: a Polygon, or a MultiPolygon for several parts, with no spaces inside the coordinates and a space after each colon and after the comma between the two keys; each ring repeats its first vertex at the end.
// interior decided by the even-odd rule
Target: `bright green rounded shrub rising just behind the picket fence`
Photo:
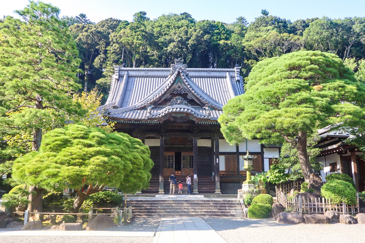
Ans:
{"type": "Polygon", "coordinates": [[[343,197],[347,204],[356,204],[356,189],[347,181],[330,180],[321,188],[321,196],[331,199],[331,203],[341,203],[343,197]]]}

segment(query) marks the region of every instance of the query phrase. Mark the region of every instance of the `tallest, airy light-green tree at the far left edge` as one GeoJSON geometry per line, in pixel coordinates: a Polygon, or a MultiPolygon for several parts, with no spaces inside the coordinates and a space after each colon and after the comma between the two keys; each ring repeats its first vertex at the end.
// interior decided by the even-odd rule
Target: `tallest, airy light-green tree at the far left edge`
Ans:
{"type": "MultiPolygon", "coordinates": [[[[30,1],[15,12],[22,20],[7,16],[0,23],[1,136],[8,135],[9,143],[19,136],[18,146],[31,143],[37,151],[43,129],[64,125],[70,114],[81,115],[70,95],[79,89],[80,60],[57,7],[30,1]]],[[[30,191],[28,210],[41,211],[43,189],[30,191]]]]}

